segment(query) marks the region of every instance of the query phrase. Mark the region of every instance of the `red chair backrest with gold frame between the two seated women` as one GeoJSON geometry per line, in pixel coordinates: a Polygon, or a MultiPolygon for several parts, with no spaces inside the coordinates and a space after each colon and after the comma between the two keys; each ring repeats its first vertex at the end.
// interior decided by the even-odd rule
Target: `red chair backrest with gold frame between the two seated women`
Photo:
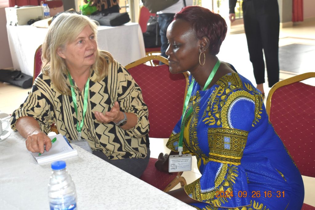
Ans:
{"type": "Polygon", "coordinates": [[[144,64],[153,59],[168,64],[166,58],[151,55],[126,65],[126,69],[140,86],[143,100],[148,106],[149,136],[169,138],[183,111],[188,73],[171,74],[169,65],[144,64]]]}

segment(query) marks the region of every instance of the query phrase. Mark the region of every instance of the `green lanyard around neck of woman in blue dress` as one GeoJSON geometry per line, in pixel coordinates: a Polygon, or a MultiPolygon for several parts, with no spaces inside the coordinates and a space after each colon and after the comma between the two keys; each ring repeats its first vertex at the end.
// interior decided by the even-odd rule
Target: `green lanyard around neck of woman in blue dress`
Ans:
{"type": "MultiPolygon", "coordinates": [[[[211,83],[213,77],[215,76],[215,73],[217,72],[218,68],[220,66],[220,60],[218,60],[215,64],[215,66],[213,67],[206,83],[204,84],[203,90],[206,90],[207,87],[209,86],[209,84],[211,83]]],[[[184,108],[183,108],[183,114],[182,114],[182,118],[181,118],[181,126],[180,126],[180,136],[179,136],[179,144],[178,144],[178,151],[179,151],[179,155],[181,156],[181,152],[183,151],[183,135],[184,135],[184,121],[186,119],[186,117],[188,117],[191,113],[192,113],[192,106],[189,108],[189,110],[187,111],[186,115],[186,109],[187,109],[187,105],[189,102],[189,99],[192,95],[192,87],[194,85],[195,79],[192,80],[192,82],[189,85],[187,94],[186,94],[186,98],[185,98],[185,103],[184,103],[184,108]]]]}

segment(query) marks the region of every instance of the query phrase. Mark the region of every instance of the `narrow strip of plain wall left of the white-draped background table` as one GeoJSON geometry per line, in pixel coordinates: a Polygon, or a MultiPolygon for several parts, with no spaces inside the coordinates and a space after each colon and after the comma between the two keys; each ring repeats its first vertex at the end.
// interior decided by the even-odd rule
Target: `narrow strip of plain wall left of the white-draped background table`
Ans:
{"type": "Polygon", "coordinates": [[[10,54],[8,34],[7,34],[7,19],[5,17],[4,7],[0,8],[0,69],[13,68],[13,63],[10,54]]]}

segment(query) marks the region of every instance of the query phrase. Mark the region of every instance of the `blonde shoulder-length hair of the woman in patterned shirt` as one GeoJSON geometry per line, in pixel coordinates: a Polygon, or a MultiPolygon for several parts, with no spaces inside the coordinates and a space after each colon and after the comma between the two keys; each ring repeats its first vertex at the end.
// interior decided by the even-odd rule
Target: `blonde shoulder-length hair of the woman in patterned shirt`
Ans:
{"type": "MultiPolygon", "coordinates": [[[[51,82],[61,94],[71,94],[70,83],[67,79],[66,62],[57,54],[58,48],[65,48],[67,43],[73,42],[85,26],[90,26],[97,34],[98,23],[89,17],[77,13],[64,12],[56,17],[49,26],[48,33],[42,45],[42,73],[48,75],[51,82]]],[[[106,51],[96,50],[96,62],[91,66],[91,73],[97,75],[97,81],[107,76],[108,61],[113,57],[106,51]]]]}

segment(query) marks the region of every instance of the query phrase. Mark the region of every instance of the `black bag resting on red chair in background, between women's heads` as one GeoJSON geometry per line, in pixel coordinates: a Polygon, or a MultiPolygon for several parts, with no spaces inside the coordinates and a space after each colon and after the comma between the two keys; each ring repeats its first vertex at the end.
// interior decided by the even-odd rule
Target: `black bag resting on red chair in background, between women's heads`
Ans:
{"type": "Polygon", "coordinates": [[[161,47],[160,27],[157,22],[157,16],[150,16],[146,25],[146,32],[143,33],[145,48],[161,47]]]}

